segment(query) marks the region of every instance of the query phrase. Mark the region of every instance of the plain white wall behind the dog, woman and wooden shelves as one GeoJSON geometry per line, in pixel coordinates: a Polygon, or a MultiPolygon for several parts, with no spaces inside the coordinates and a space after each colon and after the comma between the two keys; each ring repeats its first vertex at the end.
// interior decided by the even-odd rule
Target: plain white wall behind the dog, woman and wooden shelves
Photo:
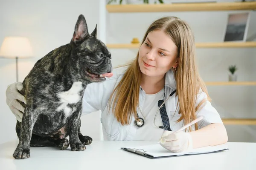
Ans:
{"type": "MultiPolygon", "coordinates": [[[[50,50],[68,43],[79,14],[87,19],[89,32],[99,23],[101,0],[1,0],[0,42],[5,36],[27,36],[36,58],[19,61],[19,81],[27,75],[35,61],[50,50]],[[89,5],[90,3],[90,5],[89,5]]],[[[227,0],[221,0],[227,1],[227,0]]],[[[229,0],[230,1],[230,0],[229,0]]],[[[167,1],[166,1],[167,2],[167,1]]],[[[107,14],[107,43],[130,43],[142,39],[149,24],[162,16],[173,15],[186,20],[195,33],[196,42],[223,41],[227,14],[230,12],[163,12],[107,14]]],[[[254,15],[255,19],[255,15],[254,15]]],[[[252,27],[256,27],[253,23],[252,27]]],[[[100,36],[100,35],[99,35],[100,36]]],[[[134,58],[135,49],[110,49],[113,66],[134,58]]],[[[197,63],[204,81],[227,81],[227,67],[237,64],[238,81],[256,80],[256,49],[197,49],[197,63]]],[[[0,58],[0,143],[16,139],[15,116],[6,105],[5,90],[15,82],[15,60],[0,58]]],[[[221,117],[256,118],[256,86],[208,86],[213,106],[221,117]]],[[[101,138],[99,112],[81,118],[81,131],[94,140],[101,138]]],[[[227,125],[229,141],[256,142],[256,127],[227,125]]]]}

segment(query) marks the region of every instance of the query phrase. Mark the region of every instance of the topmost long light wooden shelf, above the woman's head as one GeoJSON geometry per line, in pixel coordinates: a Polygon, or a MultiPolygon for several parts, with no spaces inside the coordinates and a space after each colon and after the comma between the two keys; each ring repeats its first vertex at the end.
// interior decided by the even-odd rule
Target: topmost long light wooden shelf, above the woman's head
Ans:
{"type": "Polygon", "coordinates": [[[108,12],[184,12],[256,9],[256,2],[106,5],[108,12]]]}

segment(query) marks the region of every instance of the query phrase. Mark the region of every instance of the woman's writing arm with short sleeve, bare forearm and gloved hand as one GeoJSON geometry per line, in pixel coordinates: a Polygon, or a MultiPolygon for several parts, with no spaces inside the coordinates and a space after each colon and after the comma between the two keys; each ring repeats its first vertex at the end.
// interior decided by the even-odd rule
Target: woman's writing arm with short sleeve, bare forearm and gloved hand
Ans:
{"type": "MultiPolygon", "coordinates": [[[[206,93],[199,93],[196,105],[204,99],[207,99],[206,93]]],[[[183,152],[226,143],[228,140],[226,128],[219,113],[209,101],[206,101],[197,111],[196,117],[200,116],[204,116],[204,119],[198,122],[198,130],[195,130],[194,126],[190,132],[173,133],[165,130],[161,138],[163,143],[160,142],[160,145],[172,152],[183,152]]]]}

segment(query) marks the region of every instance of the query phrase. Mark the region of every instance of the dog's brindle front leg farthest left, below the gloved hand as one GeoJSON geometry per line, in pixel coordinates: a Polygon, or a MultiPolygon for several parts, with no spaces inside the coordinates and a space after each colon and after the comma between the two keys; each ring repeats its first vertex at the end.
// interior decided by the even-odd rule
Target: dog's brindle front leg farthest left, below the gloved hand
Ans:
{"type": "Polygon", "coordinates": [[[25,159],[30,157],[30,140],[34,124],[38,118],[38,111],[33,111],[32,107],[26,107],[21,122],[20,140],[13,153],[16,159],[25,159]]]}

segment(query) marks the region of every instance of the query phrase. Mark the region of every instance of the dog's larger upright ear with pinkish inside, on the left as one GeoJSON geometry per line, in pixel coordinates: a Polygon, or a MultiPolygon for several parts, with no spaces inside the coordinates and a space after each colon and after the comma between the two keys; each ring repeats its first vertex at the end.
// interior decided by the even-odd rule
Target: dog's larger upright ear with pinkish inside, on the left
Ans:
{"type": "Polygon", "coordinates": [[[85,38],[87,38],[88,36],[89,36],[89,33],[88,33],[87,23],[84,18],[84,15],[81,14],[79,15],[76,21],[76,26],[75,26],[75,31],[73,34],[72,41],[74,43],[79,43],[85,38]]]}

